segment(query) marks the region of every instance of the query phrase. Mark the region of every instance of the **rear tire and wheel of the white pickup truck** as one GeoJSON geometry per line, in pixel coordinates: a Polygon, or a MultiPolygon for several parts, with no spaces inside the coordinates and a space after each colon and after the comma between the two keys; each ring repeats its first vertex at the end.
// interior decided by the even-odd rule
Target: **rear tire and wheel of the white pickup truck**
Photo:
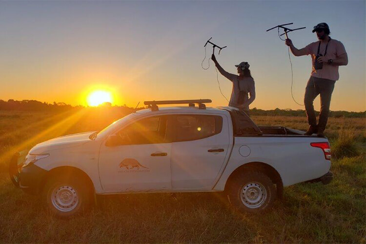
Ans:
{"type": "Polygon", "coordinates": [[[242,212],[264,212],[276,200],[274,184],[260,171],[238,173],[230,180],[227,194],[230,203],[242,212]]]}

